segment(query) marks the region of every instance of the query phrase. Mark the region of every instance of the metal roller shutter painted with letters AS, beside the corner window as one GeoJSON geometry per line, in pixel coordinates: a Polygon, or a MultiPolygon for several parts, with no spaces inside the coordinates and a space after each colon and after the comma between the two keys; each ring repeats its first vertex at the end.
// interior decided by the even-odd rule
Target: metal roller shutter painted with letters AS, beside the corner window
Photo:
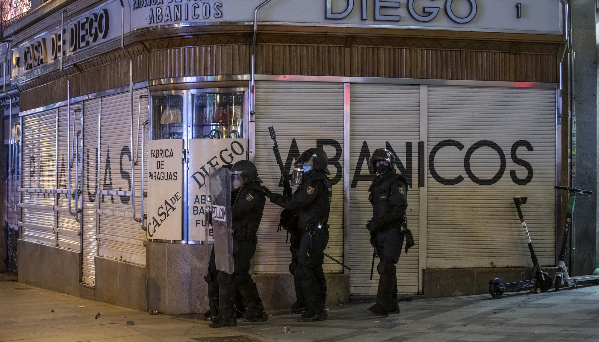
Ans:
{"type": "MultiPolygon", "coordinates": [[[[147,89],[134,91],[135,105],[141,94],[147,94],[147,89]]],[[[134,114],[134,125],[137,125],[137,110],[134,110],[134,114]]],[[[98,254],[145,265],[146,232],[132,218],[129,120],[129,92],[102,97],[98,254]],[[105,191],[110,191],[111,194],[105,191]]],[[[141,122],[145,120],[147,104],[141,106],[141,122]]],[[[135,188],[136,196],[140,196],[141,166],[135,168],[135,188]]],[[[139,208],[141,198],[136,203],[139,208]]]]}

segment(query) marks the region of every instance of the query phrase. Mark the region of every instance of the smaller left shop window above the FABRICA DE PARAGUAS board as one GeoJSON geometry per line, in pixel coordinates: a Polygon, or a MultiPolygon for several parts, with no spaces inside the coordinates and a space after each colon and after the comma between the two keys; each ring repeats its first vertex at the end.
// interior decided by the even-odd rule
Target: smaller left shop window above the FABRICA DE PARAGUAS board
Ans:
{"type": "Polygon", "coordinates": [[[153,139],[183,139],[183,95],[152,96],[153,139]]]}

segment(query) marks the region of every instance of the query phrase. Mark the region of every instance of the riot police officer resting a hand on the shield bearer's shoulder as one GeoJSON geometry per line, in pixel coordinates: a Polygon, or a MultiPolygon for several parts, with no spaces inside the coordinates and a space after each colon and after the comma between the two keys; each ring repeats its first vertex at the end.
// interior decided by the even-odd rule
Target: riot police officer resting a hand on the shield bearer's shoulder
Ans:
{"type": "Polygon", "coordinates": [[[292,197],[271,193],[262,187],[270,201],[297,213],[297,234],[292,233],[292,262],[297,303],[292,310],[304,310],[301,322],[325,320],[326,280],[322,271],[323,252],[329,240],[328,217],[332,187],[326,175],[328,158],[320,148],[304,151],[295,161],[292,184],[299,185],[292,197]],[[294,239],[299,243],[295,245],[294,239]],[[299,289],[298,289],[299,286],[299,289]],[[305,305],[305,309],[302,307],[305,305]]]}

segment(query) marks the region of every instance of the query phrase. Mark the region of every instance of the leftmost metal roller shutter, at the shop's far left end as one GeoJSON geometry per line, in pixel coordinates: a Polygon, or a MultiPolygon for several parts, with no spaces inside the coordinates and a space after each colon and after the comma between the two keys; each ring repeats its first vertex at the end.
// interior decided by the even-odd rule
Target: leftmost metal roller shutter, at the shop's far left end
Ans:
{"type": "Polygon", "coordinates": [[[23,239],[55,246],[56,109],[23,117],[23,239]]]}

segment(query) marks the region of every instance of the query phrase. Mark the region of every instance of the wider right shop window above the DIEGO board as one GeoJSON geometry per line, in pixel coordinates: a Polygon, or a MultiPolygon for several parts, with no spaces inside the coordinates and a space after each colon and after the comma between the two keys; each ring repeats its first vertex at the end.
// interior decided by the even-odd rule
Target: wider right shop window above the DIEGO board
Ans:
{"type": "Polygon", "coordinates": [[[243,91],[193,94],[192,138],[246,138],[243,100],[243,91]]]}

